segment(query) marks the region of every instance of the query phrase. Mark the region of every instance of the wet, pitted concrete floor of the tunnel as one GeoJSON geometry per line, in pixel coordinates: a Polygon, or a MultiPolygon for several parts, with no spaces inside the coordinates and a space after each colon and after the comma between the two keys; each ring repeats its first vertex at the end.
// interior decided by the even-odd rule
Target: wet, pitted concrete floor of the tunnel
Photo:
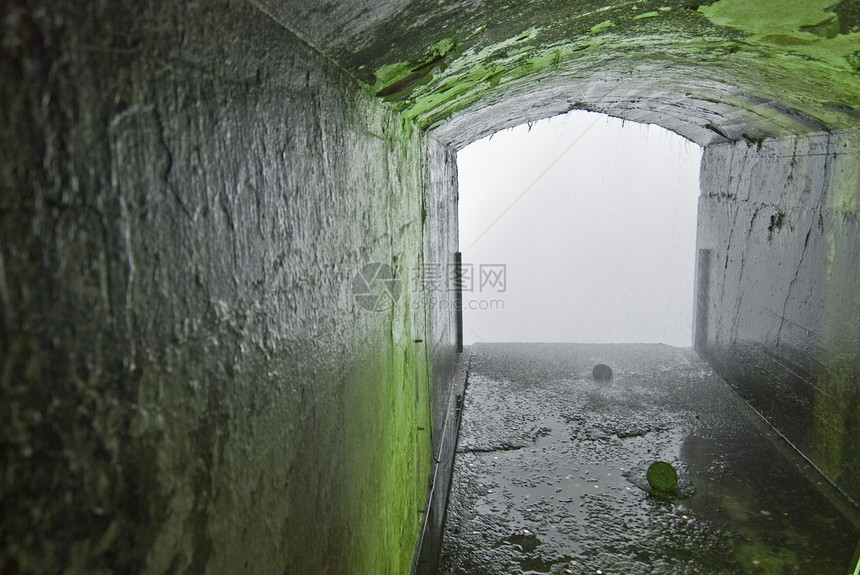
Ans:
{"type": "Polygon", "coordinates": [[[443,574],[850,575],[856,522],[691,350],[472,346],[443,574]]]}

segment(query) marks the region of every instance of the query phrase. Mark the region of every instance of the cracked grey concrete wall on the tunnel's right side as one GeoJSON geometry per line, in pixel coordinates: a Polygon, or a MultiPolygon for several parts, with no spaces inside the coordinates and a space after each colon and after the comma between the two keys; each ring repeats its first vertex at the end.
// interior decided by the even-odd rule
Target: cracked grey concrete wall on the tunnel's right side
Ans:
{"type": "Polygon", "coordinates": [[[860,134],[712,145],[701,186],[697,348],[860,501],[860,134]]]}

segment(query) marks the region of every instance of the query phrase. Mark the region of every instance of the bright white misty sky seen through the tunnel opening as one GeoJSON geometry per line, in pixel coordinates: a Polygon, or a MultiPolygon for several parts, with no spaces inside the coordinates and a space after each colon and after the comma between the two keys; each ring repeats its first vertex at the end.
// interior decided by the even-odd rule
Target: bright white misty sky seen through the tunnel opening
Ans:
{"type": "Polygon", "coordinates": [[[583,111],[461,150],[465,343],[690,347],[701,157],[663,128],[583,111]],[[481,287],[493,264],[503,292],[499,268],[481,287]],[[488,305],[504,310],[469,309],[488,305]]]}

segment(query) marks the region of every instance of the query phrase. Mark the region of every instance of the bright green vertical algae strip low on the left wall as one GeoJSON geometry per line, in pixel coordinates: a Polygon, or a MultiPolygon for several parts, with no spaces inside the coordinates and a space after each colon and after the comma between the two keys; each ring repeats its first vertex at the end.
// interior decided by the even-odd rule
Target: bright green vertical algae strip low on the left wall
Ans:
{"type": "Polygon", "coordinates": [[[337,472],[348,478],[343,543],[356,574],[409,572],[430,477],[426,354],[410,339],[380,355],[389,348],[380,343],[353,368],[343,399],[337,472]]]}

